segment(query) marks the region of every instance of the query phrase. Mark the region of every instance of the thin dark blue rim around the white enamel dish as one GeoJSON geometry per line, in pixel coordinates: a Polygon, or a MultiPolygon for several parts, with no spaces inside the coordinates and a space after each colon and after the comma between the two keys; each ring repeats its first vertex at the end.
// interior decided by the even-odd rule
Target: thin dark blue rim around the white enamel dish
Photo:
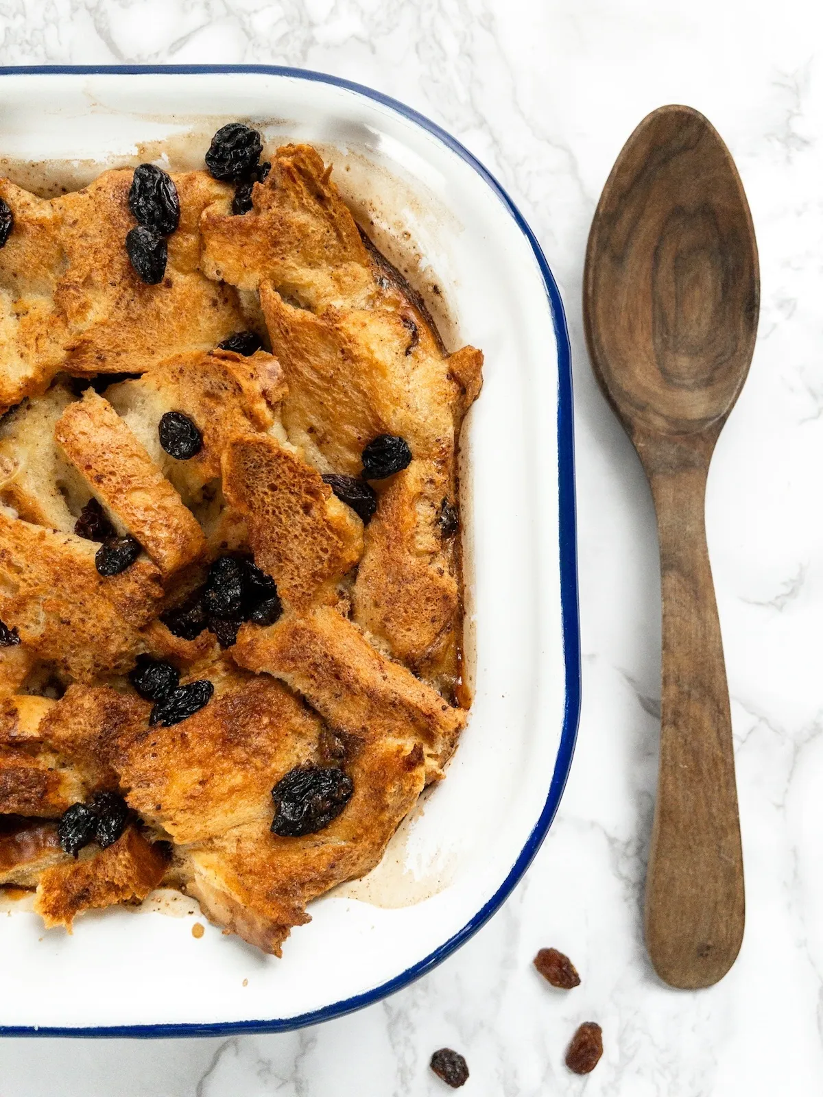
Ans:
{"type": "Polygon", "coordinates": [[[561,617],[563,622],[563,658],[565,664],[566,698],[563,711],[563,731],[560,749],[554,765],[554,773],[549,787],[549,796],[543,805],[534,828],[528,841],[520,850],[508,875],[488,902],[471,918],[462,929],[458,930],[443,945],[435,949],[418,963],[394,979],[375,986],[364,994],[336,1002],[323,1009],[298,1017],[288,1017],[282,1020],[226,1021],[214,1025],[116,1025],[106,1028],[37,1028],[33,1026],[2,1026],[0,1036],[69,1036],[69,1037],[142,1037],[169,1038],[181,1036],[227,1036],[234,1033],[253,1032],[288,1032],[293,1029],[318,1025],[320,1021],[332,1020],[345,1014],[353,1013],[365,1006],[373,1005],[396,991],[408,986],[415,980],[431,971],[455,949],[465,943],[470,937],[492,917],[520,881],[532,858],[540,848],[543,838],[552,825],[557,811],[563,790],[568,778],[577,738],[577,724],[580,715],[580,627],[577,606],[577,531],[575,520],[574,491],[574,421],[572,405],[572,348],[568,342],[568,329],[563,310],[557,284],[554,281],[545,256],[538,244],[537,237],[526,218],[517,208],[506,191],[486,168],[467,148],[455,140],[435,122],[419,114],[410,106],[384,95],[372,88],[367,88],[351,80],[341,80],[325,72],[313,72],[308,69],[288,68],[281,65],[21,65],[0,66],[0,77],[3,76],[138,76],[138,75],[203,75],[216,72],[259,72],[264,76],[285,76],[316,83],[328,83],[336,88],[345,88],[367,99],[381,103],[403,117],[416,123],[437,137],[443,145],[465,160],[486,184],[494,191],[511,214],[517,227],[529,241],[540,273],[545,285],[549,305],[552,310],[554,335],[557,340],[557,455],[559,455],[559,497],[560,497],[560,596],[561,617]]]}

